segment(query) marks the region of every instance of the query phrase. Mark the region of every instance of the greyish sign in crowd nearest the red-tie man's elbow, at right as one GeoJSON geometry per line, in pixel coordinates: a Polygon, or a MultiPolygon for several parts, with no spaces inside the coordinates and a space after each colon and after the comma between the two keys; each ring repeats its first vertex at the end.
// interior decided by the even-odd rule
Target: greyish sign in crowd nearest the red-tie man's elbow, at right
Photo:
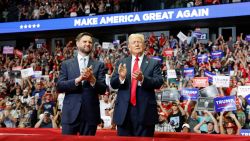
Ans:
{"type": "Polygon", "coordinates": [[[162,90],[161,101],[176,101],[180,99],[179,91],[176,89],[162,90]]]}

